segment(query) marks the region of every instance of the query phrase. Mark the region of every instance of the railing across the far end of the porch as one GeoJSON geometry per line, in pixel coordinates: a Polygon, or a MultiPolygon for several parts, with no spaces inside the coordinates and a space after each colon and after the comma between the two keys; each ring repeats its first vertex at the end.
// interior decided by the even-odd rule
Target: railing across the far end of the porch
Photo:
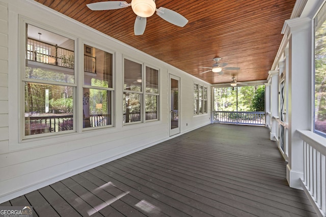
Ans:
{"type": "Polygon", "coordinates": [[[265,125],[265,112],[259,111],[213,111],[214,123],[239,125],[265,125]]]}

